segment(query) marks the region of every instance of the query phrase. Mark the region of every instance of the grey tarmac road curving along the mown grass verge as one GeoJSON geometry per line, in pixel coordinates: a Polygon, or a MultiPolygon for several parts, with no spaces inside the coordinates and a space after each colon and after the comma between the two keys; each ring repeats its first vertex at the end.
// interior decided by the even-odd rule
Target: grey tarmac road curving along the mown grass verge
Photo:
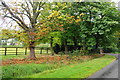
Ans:
{"type": "Polygon", "coordinates": [[[116,57],[116,60],[85,80],[120,80],[120,75],[118,74],[119,55],[112,53],[104,54],[113,55],[116,57]]]}

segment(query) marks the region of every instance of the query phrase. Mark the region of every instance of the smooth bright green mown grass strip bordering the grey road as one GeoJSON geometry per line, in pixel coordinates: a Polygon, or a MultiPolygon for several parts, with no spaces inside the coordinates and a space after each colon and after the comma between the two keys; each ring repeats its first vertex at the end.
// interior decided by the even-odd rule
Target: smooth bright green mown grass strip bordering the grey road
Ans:
{"type": "Polygon", "coordinates": [[[24,78],[87,78],[114,60],[115,57],[105,55],[104,57],[96,58],[91,61],[24,76],[24,78]]]}

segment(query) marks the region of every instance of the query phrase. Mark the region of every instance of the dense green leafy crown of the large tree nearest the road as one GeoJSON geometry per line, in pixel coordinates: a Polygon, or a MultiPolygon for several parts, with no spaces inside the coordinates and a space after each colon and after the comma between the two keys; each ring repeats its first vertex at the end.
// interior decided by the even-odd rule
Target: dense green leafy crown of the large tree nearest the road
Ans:
{"type": "Polygon", "coordinates": [[[118,25],[118,10],[111,2],[82,2],[73,3],[74,13],[83,13],[80,22],[80,36],[84,45],[98,47],[106,44],[108,36],[115,31],[118,25]],[[112,11],[111,11],[112,10],[112,11]],[[111,14],[112,13],[112,14],[111,14]]]}

